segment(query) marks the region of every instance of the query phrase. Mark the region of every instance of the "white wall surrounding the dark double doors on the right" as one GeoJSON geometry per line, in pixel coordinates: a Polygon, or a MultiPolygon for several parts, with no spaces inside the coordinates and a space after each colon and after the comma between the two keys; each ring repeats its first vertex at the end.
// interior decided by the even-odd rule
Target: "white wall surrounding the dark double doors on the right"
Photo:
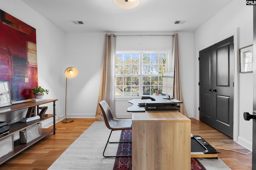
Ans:
{"type": "MultiPolygon", "coordinates": [[[[253,41],[253,14],[252,6],[246,6],[244,1],[233,0],[228,6],[223,8],[218,14],[213,16],[204,25],[195,31],[195,49],[196,59],[198,51],[217,43],[220,39],[224,39],[235,32],[234,46],[236,49],[251,45],[253,41]]],[[[237,51],[235,51],[237,57],[237,51]]],[[[238,58],[236,58],[238,62],[238,58]]],[[[238,63],[237,63],[238,64],[238,63]]],[[[199,68],[197,63],[197,68],[199,68]]],[[[234,115],[234,141],[240,145],[252,148],[252,121],[244,121],[243,113],[248,111],[252,114],[252,73],[239,73],[238,65],[235,72],[237,82],[238,106],[234,106],[237,115],[234,115]]],[[[199,72],[197,70],[197,80],[199,80],[199,72]]],[[[198,90],[197,90],[198,91],[198,90]]],[[[197,97],[197,101],[199,98],[197,97]]]]}

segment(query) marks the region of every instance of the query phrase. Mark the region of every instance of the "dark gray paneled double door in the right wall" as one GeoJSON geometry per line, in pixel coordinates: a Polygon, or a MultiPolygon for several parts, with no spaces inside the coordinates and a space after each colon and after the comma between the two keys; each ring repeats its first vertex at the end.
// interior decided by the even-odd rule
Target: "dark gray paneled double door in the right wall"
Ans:
{"type": "Polygon", "coordinates": [[[199,52],[200,120],[233,138],[234,37],[199,52]]]}

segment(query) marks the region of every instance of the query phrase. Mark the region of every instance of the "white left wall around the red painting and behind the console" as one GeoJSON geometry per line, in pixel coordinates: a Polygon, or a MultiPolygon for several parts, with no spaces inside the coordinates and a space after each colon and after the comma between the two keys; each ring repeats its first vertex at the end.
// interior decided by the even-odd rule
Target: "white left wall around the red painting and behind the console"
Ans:
{"type": "MultiPolygon", "coordinates": [[[[20,0],[1,0],[0,9],[36,29],[38,85],[50,90],[47,96],[49,99],[58,99],[56,111],[61,118],[64,118],[64,31],[20,0]]],[[[52,103],[46,106],[48,106],[46,113],[53,113],[52,103]]],[[[17,114],[18,111],[8,114],[8,116],[1,115],[1,121],[10,121],[17,114]]],[[[19,121],[20,117],[16,117],[9,123],[19,121]]],[[[42,123],[43,127],[50,125],[52,125],[52,120],[46,120],[42,123]]]]}

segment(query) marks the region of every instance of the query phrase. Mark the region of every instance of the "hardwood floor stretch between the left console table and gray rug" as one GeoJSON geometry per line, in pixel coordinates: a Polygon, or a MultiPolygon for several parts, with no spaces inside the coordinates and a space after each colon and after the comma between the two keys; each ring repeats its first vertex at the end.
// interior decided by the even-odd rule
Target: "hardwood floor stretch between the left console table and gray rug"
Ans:
{"type": "Polygon", "coordinates": [[[96,119],[74,119],[72,123],[56,123],[55,135],[48,135],[0,165],[0,170],[47,170],[94,121],[96,119]]]}

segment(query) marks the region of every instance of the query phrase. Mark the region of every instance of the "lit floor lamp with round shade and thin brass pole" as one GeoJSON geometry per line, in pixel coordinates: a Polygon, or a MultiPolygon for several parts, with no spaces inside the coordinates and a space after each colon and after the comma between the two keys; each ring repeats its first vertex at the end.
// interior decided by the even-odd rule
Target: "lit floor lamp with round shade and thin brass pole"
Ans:
{"type": "Polygon", "coordinates": [[[66,103],[65,103],[65,119],[62,120],[62,123],[70,123],[74,121],[72,118],[67,118],[67,82],[68,78],[74,78],[78,74],[78,69],[75,67],[66,68],[64,75],[66,76],[66,103]]]}

